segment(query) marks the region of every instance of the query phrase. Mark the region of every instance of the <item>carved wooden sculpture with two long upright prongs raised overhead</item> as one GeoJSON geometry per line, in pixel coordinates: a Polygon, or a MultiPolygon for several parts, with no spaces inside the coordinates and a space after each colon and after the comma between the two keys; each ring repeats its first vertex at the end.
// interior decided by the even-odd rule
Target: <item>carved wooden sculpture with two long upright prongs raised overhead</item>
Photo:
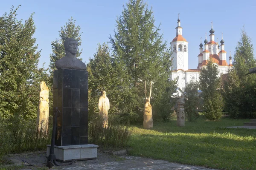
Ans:
{"type": "Polygon", "coordinates": [[[153,127],[152,107],[150,105],[151,91],[152,91],[152,82],[150,82],[150,93],[149,93],[149,97],[147,98],[146,81],[145,81],[146,103],[145,103],[144,114],[143,114],[143,118],[144,118],[143,127],[146,129],[153,127]]]}

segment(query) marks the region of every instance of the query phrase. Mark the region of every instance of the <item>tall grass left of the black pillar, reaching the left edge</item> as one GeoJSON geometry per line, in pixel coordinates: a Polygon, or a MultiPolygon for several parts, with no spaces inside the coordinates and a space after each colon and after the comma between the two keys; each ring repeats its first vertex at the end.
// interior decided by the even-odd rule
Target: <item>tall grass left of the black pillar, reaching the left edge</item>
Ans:
{"type": "MultiPolygon", "coordinates": [[[[41,122],[43,124],[43,122],[41,122]]],[[[16,120],[12,125],[0,124],[0,160],[9,153],[45,150],[50,144],[52,124],[48,131],[41,125],[38,130],[35,121],[16,120]]]]}

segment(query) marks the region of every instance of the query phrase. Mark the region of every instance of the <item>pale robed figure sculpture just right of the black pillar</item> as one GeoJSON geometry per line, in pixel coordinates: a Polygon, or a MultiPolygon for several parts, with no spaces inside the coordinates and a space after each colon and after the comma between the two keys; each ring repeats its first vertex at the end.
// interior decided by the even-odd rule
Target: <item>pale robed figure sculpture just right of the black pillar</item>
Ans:
{"type": "Polygon", "coordinates": [[[102,96],[99,98],[99,114],[103,118],[103,127],[108,127],[108,110],[110,108],[109,100],[106,91],[102,91],[102,96]]]}

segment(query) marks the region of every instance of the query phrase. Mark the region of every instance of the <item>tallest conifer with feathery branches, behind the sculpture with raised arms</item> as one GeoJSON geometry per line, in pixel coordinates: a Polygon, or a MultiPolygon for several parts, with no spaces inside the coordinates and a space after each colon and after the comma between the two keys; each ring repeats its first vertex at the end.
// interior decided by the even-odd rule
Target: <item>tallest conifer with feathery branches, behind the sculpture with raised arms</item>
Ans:
{"type": "MultiPolygon", "coordinates": [[[[154,26],[152,8],[143,0],[129,0],[116,20],[116,31],[110,37],[114,60],[122,74],[125,105],[128,113],[142,116],[144,81],[152,81],[152,98],[160,99],[166,88],[172,65],[171,51],[166,49],[159,26],[154,26]]],[[[153,101],[152,101],[153,103],[153,101]]],[[[151,104],[152,105],[152,104],[151,104]]],[[[153,107],[153,106],[152,106],[153,107]]]]}

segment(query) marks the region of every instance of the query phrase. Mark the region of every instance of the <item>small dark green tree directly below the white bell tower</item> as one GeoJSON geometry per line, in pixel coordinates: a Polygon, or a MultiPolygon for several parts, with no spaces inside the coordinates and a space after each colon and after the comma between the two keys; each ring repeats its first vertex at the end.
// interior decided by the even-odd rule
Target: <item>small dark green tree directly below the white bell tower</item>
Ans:
{"type": "Polygon", "coordinates": [[[188,116],[189,122],[195,121],[198,118],[198,105],[199,105],[199,97],[198,97],[198,82],[189,82],[186,84],[185,88],[185,105],[184,109],[186,115],[188,116]]]}

